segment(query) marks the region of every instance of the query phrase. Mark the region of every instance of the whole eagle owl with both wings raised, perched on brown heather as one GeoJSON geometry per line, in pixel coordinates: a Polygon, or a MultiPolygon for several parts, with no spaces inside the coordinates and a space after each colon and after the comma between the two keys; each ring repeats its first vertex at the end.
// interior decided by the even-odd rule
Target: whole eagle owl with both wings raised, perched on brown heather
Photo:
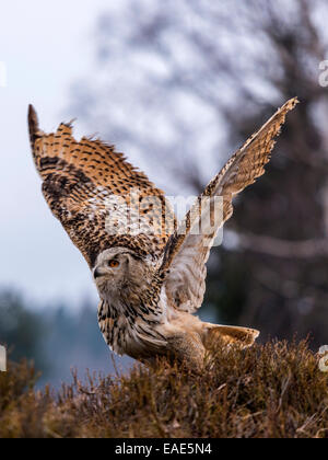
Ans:
{"type": "Polygon", "coordinates": [[[241,347],[255,342],[258,331],[201,322],[192,313],[202,303],[206,263],[218,230],[233,214],[233,197],[265,173],[274,138],[296,103],[288,101],[237,150],[179,225],[164,193],[122,153],[98,139],[77,141],[71,124],[45,134],[30,106],[43,194],[91,268],[99,327],[114,352],[149,364],[166,355],[201,369],[213,340],[241,347]],[[218,197],[221,217],[213,222],[218,197]],[[212,226],[203,223],[209,217],[212,226]]]}

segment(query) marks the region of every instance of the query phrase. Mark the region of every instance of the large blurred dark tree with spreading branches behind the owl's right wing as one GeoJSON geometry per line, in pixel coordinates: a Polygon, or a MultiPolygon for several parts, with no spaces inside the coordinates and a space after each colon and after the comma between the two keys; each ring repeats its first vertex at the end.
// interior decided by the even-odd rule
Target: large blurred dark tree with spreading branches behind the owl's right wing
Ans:
{"type": "Polygon", "coordinates": [[[263,338],[327,342],[327,19],[325,0],[125,0],[99,20],[92,83],[74,88],[89,129],[168,193],[198,193],[277,106],[300,97],[209,262],[208,304],[263,338]]]}

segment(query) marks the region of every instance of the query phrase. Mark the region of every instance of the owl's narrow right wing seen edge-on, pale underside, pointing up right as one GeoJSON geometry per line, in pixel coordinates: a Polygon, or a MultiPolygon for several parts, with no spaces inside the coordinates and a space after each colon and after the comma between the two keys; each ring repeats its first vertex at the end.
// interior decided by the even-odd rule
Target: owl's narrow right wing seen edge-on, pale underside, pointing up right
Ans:
{"type": "Polygon", "coordinates": [[[166,295],[173,307],[194,312],[201,306],[206,289],[206,263],[218,230],[233,214],[232,199],[265,173],[274,138],[280,134],[288,112],[297,102],[296,97],[288,101],[237,150],[169,238],[161,272],[167,273],[166,295]],[[221,200],[216,203],[215,197],[221,197],[221,200]],[[218,212],[218,204],[221,212],[218,212]],[[199,227],[201,231],[198,231],[199,227]]]}

